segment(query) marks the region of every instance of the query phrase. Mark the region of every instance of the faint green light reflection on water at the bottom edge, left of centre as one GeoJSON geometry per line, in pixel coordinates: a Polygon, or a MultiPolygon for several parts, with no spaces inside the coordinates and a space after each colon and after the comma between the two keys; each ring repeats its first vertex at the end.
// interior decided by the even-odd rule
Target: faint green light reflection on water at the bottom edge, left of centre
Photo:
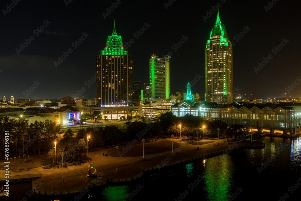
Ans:
{"type": "Polygon", "coordinates": [[[108,186],[102,190],[102,194],[106,201],[126,200],[129,195],[129,186],[108,186]]]}

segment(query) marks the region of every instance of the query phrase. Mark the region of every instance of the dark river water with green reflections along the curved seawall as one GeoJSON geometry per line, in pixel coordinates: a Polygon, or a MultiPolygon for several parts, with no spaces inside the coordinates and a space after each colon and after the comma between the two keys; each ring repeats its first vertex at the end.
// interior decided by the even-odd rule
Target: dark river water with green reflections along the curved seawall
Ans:
{"type": "Polygon", "coordinates": [[[265,148],[161,168],[131,185],[94,187],[83,196],[35,197],[30,183],[11,184],[10,200],[300,200],[301,137],[260,140],[265,148]]]}

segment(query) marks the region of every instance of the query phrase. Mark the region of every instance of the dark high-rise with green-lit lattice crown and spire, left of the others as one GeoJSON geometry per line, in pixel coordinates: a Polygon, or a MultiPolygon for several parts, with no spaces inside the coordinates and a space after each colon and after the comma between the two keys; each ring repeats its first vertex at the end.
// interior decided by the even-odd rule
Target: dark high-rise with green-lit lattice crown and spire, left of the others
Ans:
{"type": "Polygon", "coordinates": [[[124,50],[115,29],[107,46],[96,56],[97,105],[133,103],[133,57],[124,50]]]}

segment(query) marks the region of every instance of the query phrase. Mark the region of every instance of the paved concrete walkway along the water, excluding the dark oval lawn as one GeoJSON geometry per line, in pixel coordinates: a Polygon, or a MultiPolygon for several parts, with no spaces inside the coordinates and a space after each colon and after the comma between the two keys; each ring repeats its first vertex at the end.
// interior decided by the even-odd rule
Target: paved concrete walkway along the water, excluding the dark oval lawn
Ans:
{"type": "MultiPolygon", "coordinates": [[[[254,134],[253,137],[255,138],[254,134]]],[[[160,139],[163,140],[163,139],[160,139]]],[[[157,140],[156,142],[159,142],[157,140]]],[[[172,140],[172,139],[164,139],[172,140]]],[[[185,159],[192,159],[195,157],[202,157],[203,155],[222,152],[229,148],[229,143],[224,143],[226,139],[210,140],[212,143],[197,145],[197,142],[190,144],[182,139],[173,139],[174,144],[178,143],[180,146],[177,149],[166,152],[160,152],[150,155],[144,155],[145,160],[141,156],[136,157],[119,157],[104,156],[103,153],[107,153],[107,149],[99,149],[95,152],[89,152],[89,157],[92,159],[81,165],[68,166],[64,168],[44,169],[42,167],[33,168],[33,170],[24,172],[10,172],[9,176],[15,176],[20,174],[36,174],[42,173],[43,177],[36,179],[33,185],[36,186],[36,193],[48,194],[48,195],[60,195],[60,194],[74,194],[81,192],[82,190],[91,187],[92,185],[105,185],[107,181],[127,181],[141,176],[144,169],[147,168],[163,168],[165,164],[178,162],[185,159]],[[197,150],[197,147],[200,149],[197,150]],[[116,171],[116,160],[118,165],[118,171],[116,171]],[[88,178],[88,165],[90,163],[95,165],[98,177],[88,178]],[[162,166],[163,165],[163,166],[162,166]],[[64,182],[63,177],[64,175],[64,182]],[[93,183],[93,184],[92,184],[93,183]]],[[[199,141],[199,143],[204,142],[199,141]]],[[[155,144],[154,143],[154,149],[155,144]]],[[[236,146],[244,146],[246,143],[240,142],[236,146]]],[[[0,171],[1,175],[4,175],[4,170],[0,171]]]]}

